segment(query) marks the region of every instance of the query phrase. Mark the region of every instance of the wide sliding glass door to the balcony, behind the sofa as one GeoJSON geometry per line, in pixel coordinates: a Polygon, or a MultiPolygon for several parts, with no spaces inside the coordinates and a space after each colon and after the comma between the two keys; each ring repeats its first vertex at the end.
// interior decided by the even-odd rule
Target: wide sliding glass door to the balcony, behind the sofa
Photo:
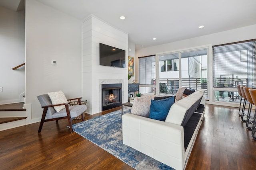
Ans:
{"type": "Polygon", "coordinates": [[[208,98],[207,51],[198,49],[166,53],[159,56],[159,83],[166,84],[167,93],[160,86],[160,95],[176,94],[180,87],[205,89],[204,96],[208,98]]]}

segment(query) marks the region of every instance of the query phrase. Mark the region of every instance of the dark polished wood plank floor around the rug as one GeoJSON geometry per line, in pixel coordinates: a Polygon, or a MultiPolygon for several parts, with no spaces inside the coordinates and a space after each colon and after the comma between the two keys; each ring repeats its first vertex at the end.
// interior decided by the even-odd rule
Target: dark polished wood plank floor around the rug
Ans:
{"type": "MultiPolygon", "coordinates": [[[[86,119],[105,113],[108,111],[86,115],[86,119]]],[[[77,133],[70,133],[67,125],[64,119],[57,124],[45,122],[41,133],[37,133],[39,123],[0,131],[0,169],[133,169],[77,133]]],[[[237,108],[206,105],[186,170],[255,169],[255,150],[256,142],[238,117],[237,108]]]]}

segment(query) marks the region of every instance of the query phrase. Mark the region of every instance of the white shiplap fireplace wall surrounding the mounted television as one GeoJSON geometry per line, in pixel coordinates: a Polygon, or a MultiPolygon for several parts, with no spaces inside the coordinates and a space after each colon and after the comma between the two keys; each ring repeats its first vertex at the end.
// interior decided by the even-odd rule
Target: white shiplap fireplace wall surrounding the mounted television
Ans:
{"type": "MultiPolygon", "coordinates": [[[[101,111],[101,88],[103,80],[122,82],[122,102],[128,102],[128,34],[95,16],[83,21],[83,98],[87,99],[86,113],[101,111]],[[126,68],[100,66],[99,43],[126,51],[126,68]]],[[[109,81],[108,81],[109,82],[109,81]]]]}

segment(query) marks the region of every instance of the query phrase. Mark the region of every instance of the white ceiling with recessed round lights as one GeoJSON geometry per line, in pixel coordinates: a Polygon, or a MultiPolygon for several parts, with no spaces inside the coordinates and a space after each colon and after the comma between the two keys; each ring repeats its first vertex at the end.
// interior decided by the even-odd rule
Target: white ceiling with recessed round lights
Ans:
{"type": "Polygon", "coordinates": [[[136,49],[256,24],[256,0],[37,1],[79,20],[92,14],[128,33],[136,49]]]}

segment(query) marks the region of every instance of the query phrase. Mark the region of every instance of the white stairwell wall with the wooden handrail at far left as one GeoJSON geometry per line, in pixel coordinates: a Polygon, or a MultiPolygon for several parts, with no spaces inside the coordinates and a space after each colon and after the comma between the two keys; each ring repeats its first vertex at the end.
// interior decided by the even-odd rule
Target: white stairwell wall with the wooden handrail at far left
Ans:
{"type": "Polygon", "coordinates": [[[0,104],[22,102],[25,92],[25,14],[0,6],[0,104]]]}

